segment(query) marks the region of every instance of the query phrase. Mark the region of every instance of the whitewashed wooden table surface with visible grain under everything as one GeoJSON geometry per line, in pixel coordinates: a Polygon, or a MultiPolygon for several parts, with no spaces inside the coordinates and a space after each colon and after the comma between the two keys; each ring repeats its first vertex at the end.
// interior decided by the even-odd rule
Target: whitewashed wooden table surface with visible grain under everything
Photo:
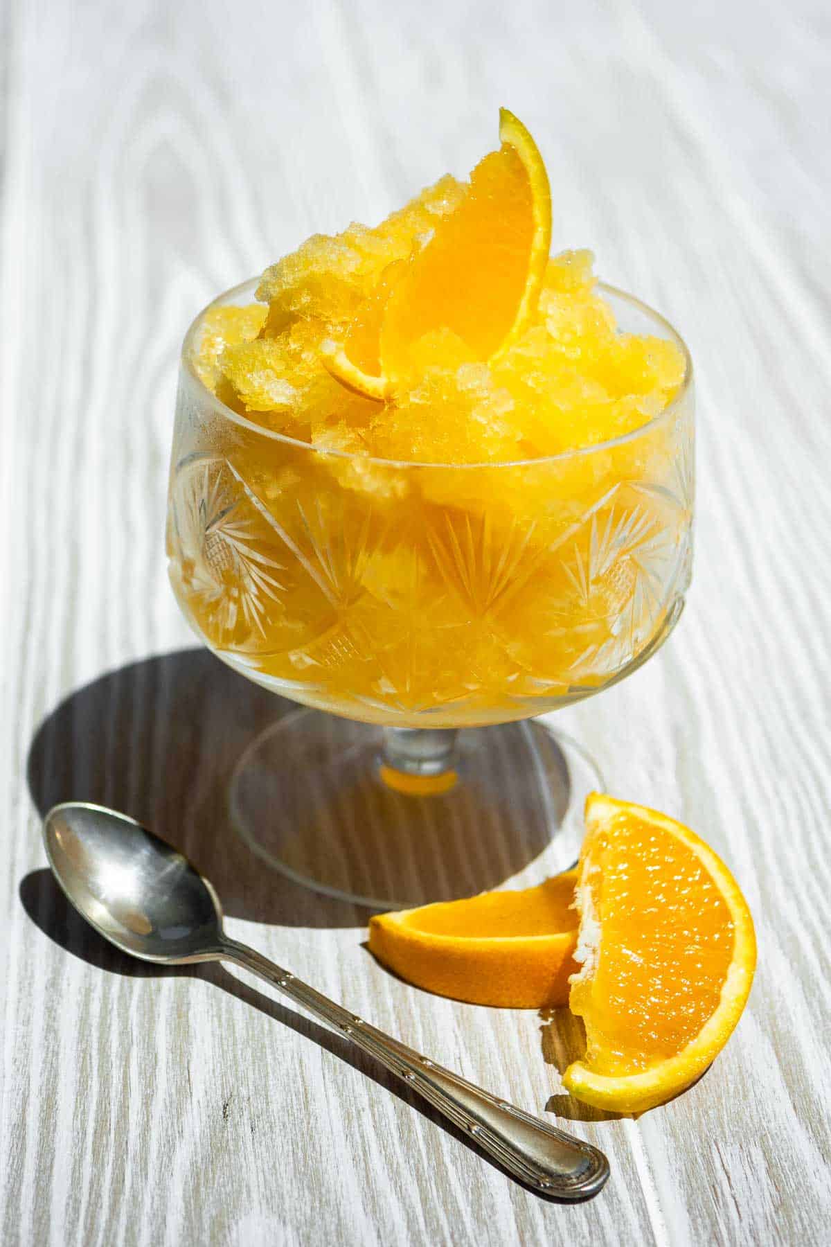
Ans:
{"type": "Polygon", "coordinates": [[[4,21],[4,1245],[831,1241],[825,0],[7,0],[4,21]],[[543,148],[554,244],[663,309],[699,377],[685,619],[562,722],[613,792],[726,857],[760,943],[699,1085],[572,1122],[613,1177],[571,1207],[230,973],[107,951],[39,838],[70,796],[152,819],[234,934],[515,1102],[579,1116],[567,1019],[409,988],[361,948],[360,913],[232,839],[227,771],[275,702],[193,648],[162,552],[193,313],[313,231],[465,173],[500,104],[543,148]]]}

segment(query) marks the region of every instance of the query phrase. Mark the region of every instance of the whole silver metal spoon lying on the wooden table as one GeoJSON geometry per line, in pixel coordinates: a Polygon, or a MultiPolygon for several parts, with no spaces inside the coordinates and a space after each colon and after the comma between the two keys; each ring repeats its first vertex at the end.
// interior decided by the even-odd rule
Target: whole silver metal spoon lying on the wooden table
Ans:
{"type": "Polygon", "coordinates": [[[141,823],[103,806],[66,802],[44,822],[55,878],[111,944],[143,961],[233,961],[346,1035],[470,1134],[520,1181],[561,1200],[597,1195],[609,1163],[591,1143],[473,1086],[370,1026],[252,948],[226,935],[207,879],[141,823]]]}

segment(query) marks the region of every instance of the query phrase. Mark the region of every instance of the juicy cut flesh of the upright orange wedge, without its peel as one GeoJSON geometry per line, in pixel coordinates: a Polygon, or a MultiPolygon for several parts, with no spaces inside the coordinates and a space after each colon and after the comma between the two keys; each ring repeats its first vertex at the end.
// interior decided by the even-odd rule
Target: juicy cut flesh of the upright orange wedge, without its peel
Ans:
{"type": "Polygon", "coordinates": [[[594,968],[572,985],[587,1064],[620,1075],[674,1056],[715,1011],[733,956],[728,905],[694,852],[617,816],[587,849],[591,910],[601,927],[594,968]]]}

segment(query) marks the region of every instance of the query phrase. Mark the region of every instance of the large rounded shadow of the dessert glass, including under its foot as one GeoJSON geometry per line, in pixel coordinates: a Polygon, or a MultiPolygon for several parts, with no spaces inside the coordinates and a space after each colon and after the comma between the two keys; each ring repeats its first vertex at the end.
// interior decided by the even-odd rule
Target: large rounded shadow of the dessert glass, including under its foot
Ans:
{"type": "MultiPolygon", "coordinates": [[[[29,753],[31,794],[41,814],[57,802],[90,801],[137,818],[196,863],[232,918],[363,927],[366,909],[292,882],[232,827],[228,784],[237,761],[295,710],[204,648],[145,658],[78,688],[44,720],[29,753]]],[[[548,845],[552,799],[517,778],[517,759],[528,763],[521,725],[505,728],[486,776],[419,806],[412,817],[412,798],[375,781],[360,725],[341,728],[339,741],[351,743],[341,747],[339,766],[330,772],[320,764],[335,722],[318,716],[310,728],[306,716],[295,729],[293,721],[269,737],[274,743],[249,772],[245,791],[249,799],[257,793],[249,817],[295,877],[334,867],[331,882],[344,892],[451,899],[496,887],[548,845]]],[[[567,792],[563,786],[566,801],[567,792]]]]}

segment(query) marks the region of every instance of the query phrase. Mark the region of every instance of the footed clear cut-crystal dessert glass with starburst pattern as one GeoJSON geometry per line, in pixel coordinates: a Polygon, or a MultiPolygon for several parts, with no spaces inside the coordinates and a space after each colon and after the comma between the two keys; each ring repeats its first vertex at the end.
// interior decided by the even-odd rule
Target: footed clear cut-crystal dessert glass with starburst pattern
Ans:
{"type": "Polygon", "coordinates": [[[399,463],[274,433],[203,384],[206,313],[191,327],[169,575],[217,657],[305,707],[275,703],[229,786],[237,831],[297,882],[392,908],[531,885],[577,858],[602,781],[532,720],[649,658],[691,566],[689,354],[657,313],[599,289],[622,330],[679,347],[683,384],[634,431],[520,463],[399,463]]]}

